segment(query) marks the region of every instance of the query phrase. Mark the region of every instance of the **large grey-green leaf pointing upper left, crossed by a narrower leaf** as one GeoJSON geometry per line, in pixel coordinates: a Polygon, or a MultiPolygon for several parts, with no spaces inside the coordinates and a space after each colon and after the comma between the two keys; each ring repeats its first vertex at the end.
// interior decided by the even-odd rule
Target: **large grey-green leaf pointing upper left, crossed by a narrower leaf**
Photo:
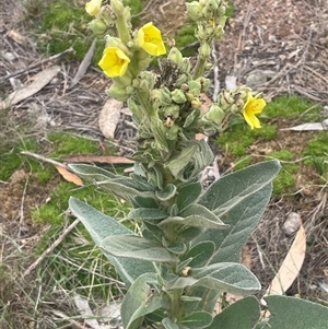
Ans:
{"type": "MultiPolygon", "coordinates": [[[[101,246],[102,242],[108,236],[133,234],[132,231],[118,223],[115,219],[101,213],[93,207],[75,198],[70,198],[69,207],[73,214],[84,224],[97,246],[101,246]]],[[[127,286],[130,286],[142,273],[155,271],[154,266],[149,261],[133,258],[118,258],[108,252],[105,252],[105,255],[115,266],[116,271],[127,286]]]]}

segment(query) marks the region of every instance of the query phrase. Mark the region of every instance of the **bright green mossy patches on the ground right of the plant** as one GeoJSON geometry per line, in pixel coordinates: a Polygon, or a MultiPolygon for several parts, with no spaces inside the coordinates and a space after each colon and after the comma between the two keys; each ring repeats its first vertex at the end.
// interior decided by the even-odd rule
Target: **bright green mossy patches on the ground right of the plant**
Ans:
{"type": "MultiPolygon", "coordinates": [[[[255,163],[250,146],[277,139],[277,119],[295,119],[303,122],[315,121],[320,118],[320,105],[297,95],[279,96],[268,103],[260,116],[260,129],[250,130],[243,119],[236,118],[230,128],[218,139],[221,152],[227,152],[235,163],[234,169],[244,168],[255,163]],[[273,119],[273,120],[272,120],[273,119]]],[[[282,162],[282,168],[273,181],[273,196],[295,192],[295,174],[300,169],[301,162],[294,162],[296,155],[289,150],[280,150],[267,154],[269,158],[278,158],[282,162]],[[294,163],[293,163],[294,162],[294,163]]],[[[328,178],[328,133],[317,133],[304,145],[302,154],[297,157],[307,157],[304,163],[313,165],[319,175],[328,178]]],[[[258,161],[258,160],[257,160],[258,161]]]]}

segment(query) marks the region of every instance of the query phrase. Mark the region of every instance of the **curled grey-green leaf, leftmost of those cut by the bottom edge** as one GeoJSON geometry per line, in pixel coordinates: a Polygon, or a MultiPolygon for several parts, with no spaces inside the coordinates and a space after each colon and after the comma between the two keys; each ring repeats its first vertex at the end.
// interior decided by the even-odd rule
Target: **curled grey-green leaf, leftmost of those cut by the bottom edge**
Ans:
{"type": "Polygon", "coordinates": [[[139,329],[147,314],[165,306],[163,298],[152,290],[156,284],[156,274],[144,273],[130,286],[120,309],[125,329],[139,329]]]}

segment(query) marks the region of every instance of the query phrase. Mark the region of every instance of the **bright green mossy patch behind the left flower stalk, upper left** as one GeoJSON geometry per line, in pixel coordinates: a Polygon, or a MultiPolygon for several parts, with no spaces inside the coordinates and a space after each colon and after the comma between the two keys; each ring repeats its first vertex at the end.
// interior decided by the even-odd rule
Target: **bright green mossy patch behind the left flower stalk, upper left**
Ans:
{"type": "MultiPolygon", "coordinates": [[[[141,0],[125,0],[124,3],[131,8],[132,24],[139,22],[139,13],[143,4],[141,0]]],[[[68,59],[82,61],[94,38],[87,24],[92,21],[83,5],[74,4],[74,1],[50,1],[37,7],[37,0],[30,0],[26,4],[30,19],[38,22],[36,27],[37,47],[47,56],[62,52],[72,47],[73,55],[68,59]],[[42,9],[37,9],[42,8],[42,9]]],[[[93,58],[96,64],[103,55],[105,46],[104,38],[97,37],[95,55],[93,58]]]]}

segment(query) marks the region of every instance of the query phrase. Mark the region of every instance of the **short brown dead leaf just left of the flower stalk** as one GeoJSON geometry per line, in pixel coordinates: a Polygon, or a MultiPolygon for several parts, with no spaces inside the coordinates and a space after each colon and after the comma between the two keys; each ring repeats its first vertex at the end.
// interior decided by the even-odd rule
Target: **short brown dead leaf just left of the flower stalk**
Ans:
{"type": "Polygon", "coordinates": [[[122,102],[109,98],[99,114],[99,129],[106,138],[114,139],[114,133],[117,124],[120,119],[120,109],[122,107],[122,102]]]}

